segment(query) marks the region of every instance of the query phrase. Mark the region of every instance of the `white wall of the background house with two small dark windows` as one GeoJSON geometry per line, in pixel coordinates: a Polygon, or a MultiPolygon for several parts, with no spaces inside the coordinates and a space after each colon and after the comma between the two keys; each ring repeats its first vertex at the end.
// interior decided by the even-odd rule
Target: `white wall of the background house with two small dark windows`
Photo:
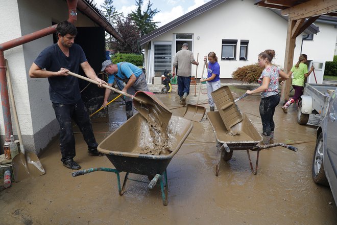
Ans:
{"type": "MultiPolygon", "coordinates": [[[[221,68],[221,78],[231,78],[232,73],[238,67],[256,63],[258,54],[266,49],[275,50],[276,56],[273,63],[283,68],[288,22],[273,11],[257,7],[254,3],[255,1],[253,0],[228,0],[167,31],[151,42],[158,40],[174,41],[173,34],[175,33],[194,34],[193,52],[195,58],[197,59],[197,54],[199,53],[199,62],[202,66],[203,56],[211,51],[215,52],[221,68]],[[199,40],[197,39],[198,36],[200,37],[199,40]],[[237,39],[236,60],[221,60],[222,39],[237,39]],[[241,39],[249,40],[247,61],[238,60],[241,39]]],[[[320,46],[319,49],[328,49],[331,41],[333,42],[332,47],[334,47],[335,34],[331,38],[331,33],[335,31],[331,31],[331,27],[333,26],[331,25],[328,31],[318,33],[320,35],[319,38],[322,37],[322,40],[315,43],[316,46],[320,46]],[[325,39],[329,39],[329,41],[325,39]]],[[[320,28],[323,30],[325,26],[320,25],[320,28]]],[[[305,33],[302,34],[304,35],[305,33]]],[[[294,61],[297,61],[300,55],[301,40],[302,35],[299,35],[296,38],[294,61]]],[[[302,52],[304,53],[304,51],[307,51],[307,42],[303,43],[302,52]]],[[[331,48],[332,54],[330,54],[330,51],[321,51],[320,54],[312,53],[310,54],[310,59],[311,55],[315,55],[315,60],[323,60],[323,58],[331,60],[333,50],[331,48]]],[[[172,59],[174,56],[175,53],[173,53],[172,59]]],[[[192,75],[195,75],[195,72],[196,66],[192,65],[192,75]]],[[[198,77],[201,76],[201,73],[202,70],[199,69],[198,77]]]]}

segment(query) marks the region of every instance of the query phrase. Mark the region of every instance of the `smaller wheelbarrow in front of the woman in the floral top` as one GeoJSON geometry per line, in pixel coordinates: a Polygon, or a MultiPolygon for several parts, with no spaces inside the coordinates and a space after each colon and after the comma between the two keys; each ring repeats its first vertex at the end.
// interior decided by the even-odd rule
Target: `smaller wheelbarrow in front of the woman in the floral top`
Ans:
{"type": "Polygon", "coordinates": [[[223,155],[225,161],[229,161],[232,158],[233,150],[246,150],[250,163],[250,168],[253,174],[257,174],[258,158],[260,150],[268,149],[276,146],[282,146],[292,151],[297,151],[296,147],[286,145],[283,143],[275,143],[270,145],[257,145],[262,137],[256,130],[250,119],[246,114],[242,114],[242,121],[232,126],[229,130],[226,128],[219,111],[211,111],[207,113],[209,123],[213,128],[216,139],[216,147],[218,148],[217,163],[215,168],[215,175],[219,175],[220,161],[223,155]],[[251,151],[257,151],[255,170],[250,158],[251,151]]]}

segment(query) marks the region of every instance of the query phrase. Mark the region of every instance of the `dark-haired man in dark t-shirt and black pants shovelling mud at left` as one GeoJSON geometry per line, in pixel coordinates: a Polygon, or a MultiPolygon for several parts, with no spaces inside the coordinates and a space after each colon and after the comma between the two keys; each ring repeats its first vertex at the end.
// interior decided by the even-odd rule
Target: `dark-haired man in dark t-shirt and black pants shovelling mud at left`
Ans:
{"type": "Polygon", "coordinates": [[[71,119],[80,128],[88,145],[89,155],[102,156],[103,154],[97,150],[98,143],[93,135],[89,114],[81,99],[78,78],[68,75],[67,72],[78,73],[81,65],[85,75],[99,82],[100,87],[107,83],[97,77],[82,48],[74,43],[77,29],[73,24],[67,20],[60,22],[57,25],[56,34],[57,43],[40,53],[29,70],[29,76],[48,78],[50,99],[60,124],[61,161],[65,167],[77,170],[81,166],[74,161],[76,152],[71,119]]]}

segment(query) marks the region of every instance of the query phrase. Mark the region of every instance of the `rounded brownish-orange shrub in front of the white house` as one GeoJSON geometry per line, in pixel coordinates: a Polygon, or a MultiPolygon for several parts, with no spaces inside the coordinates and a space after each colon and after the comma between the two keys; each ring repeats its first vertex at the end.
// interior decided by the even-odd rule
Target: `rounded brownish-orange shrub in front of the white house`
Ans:
{"type": "Polygon", "coordinates": [[[262,71],[263,68],[261,68],[257,63],[245,65],[237,68],[237,70],[232,73],[232,78],[244,83],[255,83],[260,77],[262,71]]]}

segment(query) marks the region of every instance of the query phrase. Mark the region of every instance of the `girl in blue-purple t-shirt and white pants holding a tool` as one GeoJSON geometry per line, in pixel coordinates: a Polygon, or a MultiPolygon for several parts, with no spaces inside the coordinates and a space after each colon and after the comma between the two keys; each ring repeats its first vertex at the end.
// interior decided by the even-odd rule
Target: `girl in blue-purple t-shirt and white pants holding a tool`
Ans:
{"type": "Polygon", "coordinates": [[[207,57],[204,57],[204,61],[207,68],[207,78],[200,79],[200,82],[207,81],[207,97],[209,103],[210,111],[214,111],[214,101],[212,98],[211,93],[221,87],[220,81],[220,65],[218,63],[218,57],[215,55],[214,52],[208,53],[207,57]],[[207,63],[208,58],[208,63],[207,63]]]}

